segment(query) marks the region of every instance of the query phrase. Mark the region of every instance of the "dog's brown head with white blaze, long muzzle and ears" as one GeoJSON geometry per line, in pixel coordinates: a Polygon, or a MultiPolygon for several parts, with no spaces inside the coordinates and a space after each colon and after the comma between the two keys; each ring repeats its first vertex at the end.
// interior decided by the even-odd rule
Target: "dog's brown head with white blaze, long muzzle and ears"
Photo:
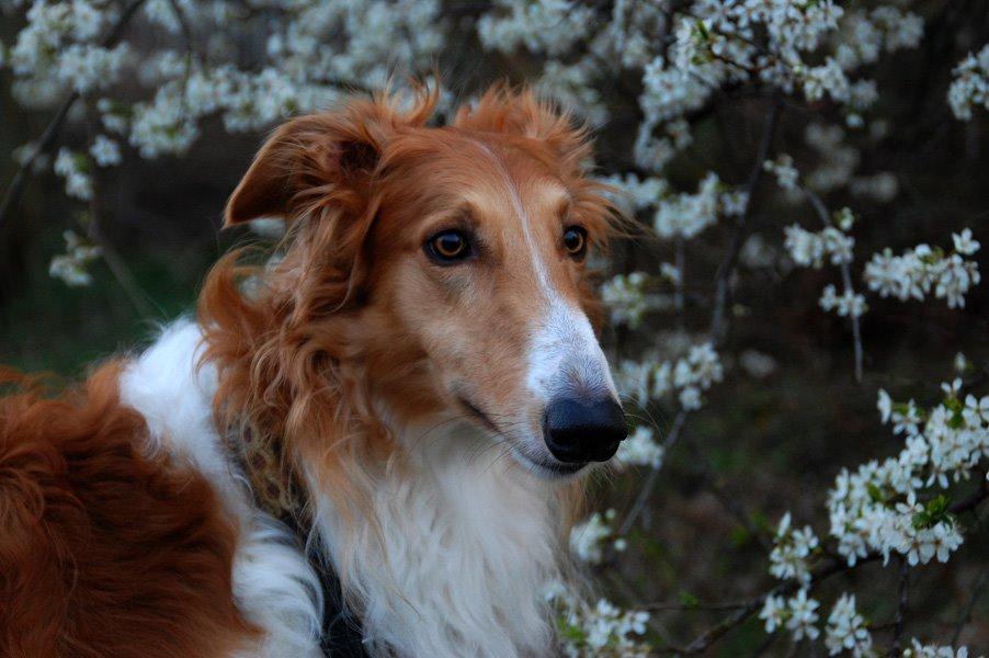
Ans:
{"type": "Polygon", "coordinates": [[[289,223],[272,281],[312,376],[348,363],[378,416],[469,417],[545,477],[606,461],[626,428],[589,319],[612,213],[586,133],[501,87],[443,127],[434,105],[378,97],[288,122],[226,223],[289,223]]]}

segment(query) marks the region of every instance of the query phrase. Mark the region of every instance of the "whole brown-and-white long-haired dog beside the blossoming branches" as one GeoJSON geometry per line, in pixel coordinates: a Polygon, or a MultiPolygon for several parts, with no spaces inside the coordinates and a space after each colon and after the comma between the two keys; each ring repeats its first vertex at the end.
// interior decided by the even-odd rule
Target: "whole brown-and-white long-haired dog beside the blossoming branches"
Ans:
{"type": "Polygon", "coordinates": [[[287,124],[227,209],[284,217],[280,258],[221,261],[84,392],[0,401],[0,653],[318,656],[307,555],[371,655],[553,653],[575,476],[624,438],[583,275],[610,207],[531,94],[434,104],[287,124]]]}

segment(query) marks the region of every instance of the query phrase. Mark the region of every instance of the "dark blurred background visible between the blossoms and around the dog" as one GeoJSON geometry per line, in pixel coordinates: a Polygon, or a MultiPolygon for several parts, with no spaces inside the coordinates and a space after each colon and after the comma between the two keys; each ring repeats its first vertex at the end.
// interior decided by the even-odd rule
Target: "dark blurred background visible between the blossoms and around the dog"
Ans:
{"type": "MultiPolygon", "coordinates": [[[[9,45],[26,19],[16,3],[7,4],[0,42],[9,45]]],[[[957,121],[945,100],[953,68],[989,42],[989,2],[893,4],[909,4],[923,18],[923,36],[917,47],[867,65],[882,91],[874,112],[885,127],[848,131],[845,141],[856,154],[855,175],[890,174],[897,193],[882,201],[866,201],[848,188],[823,194],[829,207],[850,206],[857,216],[856,279],[868,256],[885,247],[896,253],[923,242],[950,247],[951,234],[966,227],[984,245],[989,242],[989,113],[957,121]]],[[[611,20],[613,3],[587,5],[602,25],[611,20]]],[[[520,83],[543,75],[545,57],[525,49],[504,53],[481,42],[476,22],[497,10],[497,3],[485,2],[439,5],[447,36],[431,55],[430,67],[441,72],[452,104],[497,80],[520,83]]],[[[144,23],[135,24],[127,38],[134,52],[159,47],[161,39],[181,41],[144,23]]],[[[208,35],[194,38],[208,53],[208,35]]],[[[252,49],[265,48],[265,38],[262,25],[237,36],[245,66],[250,66],[252,49]]],[[[357,80],[341,84],[349,86],[360,87],[357,80]]],[[[0,192],[18,169],[15,149],[37,140],[54,114],[52,106],[25,107],[15,101],[13,87],[12,71],[0,69],[0,192]]],[[[115,89],[122,98],[147,94],[136,73],[123,75],[115,89]]],[[[645,175],[633,156],[643,113],[641,72],[609,71],[593,89],[606,107],[594,126],[602,172],[645,175]]],[[[707,171],[729,185],[743,185],[750,175],[766,114],[778,97],[744,82],[718,93],[716,102],[690,116],[692,141],[663,168],[672,190],[696,190],[707,171]]],[[[805,134],[822,120],[841,125],[841,109],[827,99],[808,102],[784,94],[774,150],[789,154],[802,171],[820,168],[825,156],[807,144],[805,134]]],[[[122,139],[122,163],[93,171],[90,202],[67,196],[64,178],[50,168],[31,177],[0,225],[0,361],[26,371],[82,376],[93,361],[136,349],[161,322],[192,313],[211,263],[231,245],[264,240],[257,232],[220,231],[219,226],[224,203],[270,125],[231,133],[213,115],[203,117],[198,128],[185,152],[154,159],[139,157],[122,139]],[[93,223],[105,258],[89,269],[90,285],[70,287],[49,275],[49,264],[65,251],[64,231],[92,230],[93,223]]],[[[73,116],[59,127],[53,156],[62,146],[84,150],[91,139],[91,124],[73,116]]],[[[732,279],[730,329],[720,350],[730,385],[715,385],[705,394],[706,405],[690,415],[627,535],[628,547],[594,567],[614,600],[655,604],[659,644],[662,636],[685,643],[724,619],[724,609],[708,610],[707,604],[744,601],[764,591],[773,582],[766,572],[768,547],[783,512],[792,510],[800,525],[810,523],[826,534],[823,501],[838,472],[901,447],[901,438],[879,422],[878,388],[897,399],[933,402],[940,399],[940,383],[954,376],[958,352],[975,366],[969,375],[974,385],[984,384],[989,373],[989,288],[984,284],[966,296],[964,309],[950,309],[943,300],[868,296],[869,311],[862,318],[864,377],[856,382],[848,320],[818,303],[821,288],[839,281],[837,270],[795,268],[783,246],[784,227],[816,226],[814,211],[777,193],[772,177],[763,178],[752,195],[747,242],[732,279]]],[[[640,219],[649,223],[649,217],[640,219]]],[[[730,222],[721,220],[679,247],[645,234],[615,246],[610,274],[655,270],[658,262],[680,259],[684,281],[682,313],[649,314],[634,331],[606,330],[615,362],[707,330],[730,228],[730,222]]],[[[979,257],[973,258],[985,264],[979,257]]],[[[861,279],[856,283],[865,290],[861,279]]],[[[653,404],[643,413],[661,436],[677,409],[653,404]]],[[[592,507],[613,508],[621,519],[645,475],[645,469],[632,470],[598,486],[592,507]]],[[[974,532],[948,564],[934,561],[911,572],[906,614],[912,635],[951,638],[957,627],[975,655],[989,650],[987,512],[966,520],[974,532]]],[[[897,569],[864,566],[821,586],[820,598],[840,590],[859,592],[860,609],[873,620],[878,642],[896,615],[897,569]]],[[[772,644],[775,636],[766,636],[762,626],[752,617],[705,655],[826,654],[817,645],[797,649],[782,639],[772,644]]]]}

